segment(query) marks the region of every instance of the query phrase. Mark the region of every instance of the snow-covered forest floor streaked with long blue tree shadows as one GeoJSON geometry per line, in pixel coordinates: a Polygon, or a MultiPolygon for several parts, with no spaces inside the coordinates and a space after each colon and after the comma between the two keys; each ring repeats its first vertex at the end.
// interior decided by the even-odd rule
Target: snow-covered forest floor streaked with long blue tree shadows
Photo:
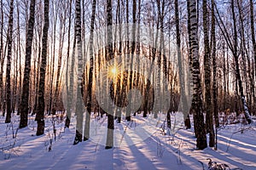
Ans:
{"type": "Polygon", "coordinates": [[[207,158],[225,163],[230,169],[256,169],[256,127],[241,123],[218,129],[218,150],[196,150],[193,128],[179,129],[170,136],[157,126],[140,143],[105,150],[91,140],[73,145],[74,119],[69,129],[64,129],[61,117],[49,116],[45,122],[45,134],[38,137],[34,116],[29,116],[28,127],[18,130],[19,116],[13,116],[8,124],[0,116],[0,169],[187,170],[202,169],[201,162],[207,169],[207,158]]]}

